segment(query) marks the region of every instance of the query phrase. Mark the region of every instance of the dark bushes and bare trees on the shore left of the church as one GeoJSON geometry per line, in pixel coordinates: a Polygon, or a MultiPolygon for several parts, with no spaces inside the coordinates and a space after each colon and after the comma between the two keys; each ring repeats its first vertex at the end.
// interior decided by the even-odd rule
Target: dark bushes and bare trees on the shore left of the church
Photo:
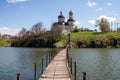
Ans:
{"type": "Polygon", "coordinates": [[[47,31],[42,22],[32,26],[30,30],[22,28],[11,43],[12,47],[40,47],[54,48],[55,43],[61,38],[62,29],[52,25],[51,30],[47,31]]]}

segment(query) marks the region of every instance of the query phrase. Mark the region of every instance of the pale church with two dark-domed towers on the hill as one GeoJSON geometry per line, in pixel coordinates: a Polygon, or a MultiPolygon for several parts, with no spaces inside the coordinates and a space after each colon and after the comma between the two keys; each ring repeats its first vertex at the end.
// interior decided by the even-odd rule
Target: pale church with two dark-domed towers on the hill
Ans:
{"type": "Polygon", "coordinates": [[[75,28],[75,20],[73,18],[73,12],[70,10],[69,12],[69,19],[65,22],[65,17],[62,13],[60,12],[60,15],[58,16],[58,22],[55,22],[53,25],[60,26],[63,31],[71,32],[75,28]]]}

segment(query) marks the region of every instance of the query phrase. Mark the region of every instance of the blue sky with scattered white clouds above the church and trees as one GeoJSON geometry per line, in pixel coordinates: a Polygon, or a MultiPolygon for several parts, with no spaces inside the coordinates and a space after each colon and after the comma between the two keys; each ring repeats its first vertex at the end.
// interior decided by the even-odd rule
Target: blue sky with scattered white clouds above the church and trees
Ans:
{"type": "Polygon", "coordinates": [[[102,17],[120,22],[119,3],[120,0],[0,0],[0,33],[16,35],[38,22],[50,30],[60,11],[67,20],[70,10],[79,28],[95,29],[95,20],[102,17]]]}

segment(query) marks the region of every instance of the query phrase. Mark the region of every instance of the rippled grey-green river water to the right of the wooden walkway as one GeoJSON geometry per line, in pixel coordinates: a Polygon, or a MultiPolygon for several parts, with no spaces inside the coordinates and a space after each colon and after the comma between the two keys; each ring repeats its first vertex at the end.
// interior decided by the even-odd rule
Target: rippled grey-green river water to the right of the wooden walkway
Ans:
{"type": "Polygon", "coordinates": [[[71,49],[73,61],[77,61],[77,80],[82,72],[87,80],[120,80],[120,49],[71,49]]]}

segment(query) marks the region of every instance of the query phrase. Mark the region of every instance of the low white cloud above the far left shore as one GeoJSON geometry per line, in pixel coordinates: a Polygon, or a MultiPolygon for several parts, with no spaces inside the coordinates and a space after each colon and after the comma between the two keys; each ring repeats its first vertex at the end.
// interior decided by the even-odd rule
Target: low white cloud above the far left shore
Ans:
{"type": "Polygon", "coordinates": [[[9,34],[9,35],[17,35],[17,33],[20,31],[20,29],[10,29],[8,27],[0,27],[0,33],[3,34],[9,34]]]}

